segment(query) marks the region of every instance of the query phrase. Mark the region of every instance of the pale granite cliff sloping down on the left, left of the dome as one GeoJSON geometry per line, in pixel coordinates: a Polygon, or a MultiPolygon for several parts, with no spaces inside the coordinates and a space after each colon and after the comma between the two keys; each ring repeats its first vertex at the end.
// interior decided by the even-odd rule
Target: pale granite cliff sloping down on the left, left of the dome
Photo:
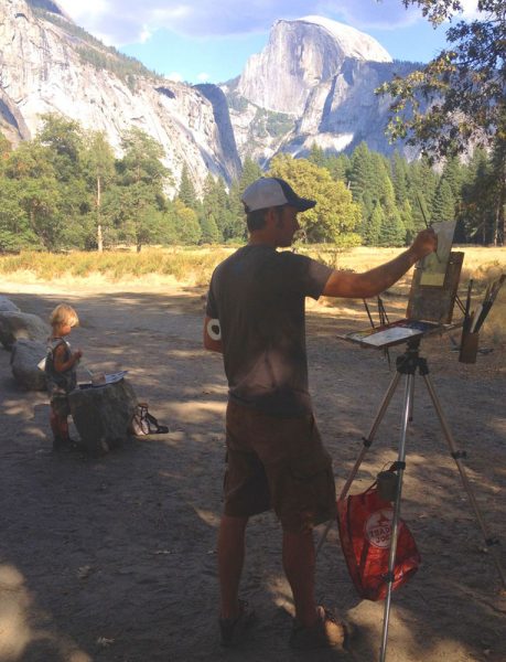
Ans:
{"type": "Polygon", "coordinates": [[[228,181],[238,175],[240,161],[219,89],[204,93],[149,72],[125,73],[123,64],[55,2],[2,0],[0,128],[13,141],[26,139],[35,135],[42,114],[56,111],[86,129],[104,130],[119,148],[122,131],[138,127],[163,146],[175,179],[184,162],[197,188],[208,171],[228,181]]]}

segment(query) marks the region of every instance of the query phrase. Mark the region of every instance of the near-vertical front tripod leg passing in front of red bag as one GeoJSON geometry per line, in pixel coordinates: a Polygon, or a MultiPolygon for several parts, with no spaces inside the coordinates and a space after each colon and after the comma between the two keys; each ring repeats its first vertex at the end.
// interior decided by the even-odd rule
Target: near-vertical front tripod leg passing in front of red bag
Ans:
{"type": "Polygon", "coordinates": [[[381,633],[381,648],[379,650],[379,662],[385,662],[385,656],[387,653],[387,639],[388,639],[388,626],[390,620],[390,605],[391,605],[391,587],[394,584],[394,568],[396,565],[396,554],[397,554],[397,537],[399,533],[399,517],[400,517],[400,499],[402,494],[402,477],[405,473],[406,466],[406,435],[408,431],[408,423],[412,408],[412,395],[413,395],[413,384],[415,374],[409,373],[407,375],[406,382],[406,391],[405,391],[405,402],[402,407],[402,423],[400,430],[400,442],[399,442],[399,451],[397,457],[398,463],[398,480],[397,480],[397,492],[396,492],[396,501],[394,503],[394,516],[391,520],[391,537],[390,537],[390,552],[388,555],[388,573],[386,577],[386,581],[388,583],[387,587],[387,597],[385,599],[385,611],[383,618],[383,633],[381,633]]]}

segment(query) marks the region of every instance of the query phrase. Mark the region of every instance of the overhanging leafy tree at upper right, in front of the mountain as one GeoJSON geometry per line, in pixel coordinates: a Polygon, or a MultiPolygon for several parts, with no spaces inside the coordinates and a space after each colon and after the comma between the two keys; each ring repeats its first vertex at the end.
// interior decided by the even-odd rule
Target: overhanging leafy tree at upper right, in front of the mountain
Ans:
{"type": "MultiPolygon", "coordinates": [[[[461,0],[402,0],[417,4],[433,24],[450,21],[449,47],[428,65],[402,78],[396,76],[377,92],[394,97],[389,134],[407,139],[437,158],[469,149],[470,142],[504,154],[506,118],[506,12],[504,0],[478,0],[471,21],[455,21],[461,0]]],[[[493,241],[504,243],[506,185],[504,159],[497,163],[493,241]],[[502,179],[500,179],[502,178],[502,179]]],[[[455,190],[452,190],[455,195],[455,190]]]]}

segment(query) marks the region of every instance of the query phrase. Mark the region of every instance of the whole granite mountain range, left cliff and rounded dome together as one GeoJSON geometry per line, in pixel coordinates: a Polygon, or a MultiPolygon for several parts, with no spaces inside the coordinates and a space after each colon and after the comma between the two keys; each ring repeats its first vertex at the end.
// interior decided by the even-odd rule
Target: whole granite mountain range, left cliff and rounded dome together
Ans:
{"type": "Polygon", "coordinates": [[[391,62],[365,33],[305,17],[276,21],[235,81],[191,86],[105,46],[54,0],[2,0],[0,66],[0,130],[14,145],[51,111],[104,130],[116,149],[138,127],[162,145],[175,185],[186,164],[197,191],[208,172],[236,179],[246,156],[265,163],[278,151],[305,156],[316,143],[338,152],[362,140],[391,152],[389,100],[374,90],[417,67],[391,62]]]}

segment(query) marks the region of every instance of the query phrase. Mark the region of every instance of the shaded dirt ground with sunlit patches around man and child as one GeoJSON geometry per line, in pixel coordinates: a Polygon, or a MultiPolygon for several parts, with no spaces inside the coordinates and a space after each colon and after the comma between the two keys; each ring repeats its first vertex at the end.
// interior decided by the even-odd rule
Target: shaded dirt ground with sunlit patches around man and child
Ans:
{"type": "MultiPolygon", "coordinates": [[[[215,538],[226,384],[220,356],[202,349],[202,289],[3,280],[0,293],[45,319],[62,300],[74,305],[82,327],[71,341],[86,364],[128,370],[139,398],[170,426],[166,436],[132,439],[100,459],[55,455],[46,396],[21,391],[0,350],[0,662],[378,659],[384,605],[355,594],[335,527],[317,559],[317,597],[357,626],[357,638],[349,653],[289,649],[293,607],[271,514],[248,528],[243,595],[258,623],[240,649],[219,647],[215,538]]],[[[395,374],[381,352],[336,338],[365,325],[358,305],[308,312],[310,382],[337,489],[395,374]]],[[[422,343],[506,566],[506,348],[494,346],[476,365],[459,363],[451,350],[448,335],[422,343]]],[[[397,457],[402,384],[354,492],[397,457]]],[[[420,376],[413,414],[402,516],[423,564],[394,594],[387,660],[504,662],[506,598],[420,376]]]]}

